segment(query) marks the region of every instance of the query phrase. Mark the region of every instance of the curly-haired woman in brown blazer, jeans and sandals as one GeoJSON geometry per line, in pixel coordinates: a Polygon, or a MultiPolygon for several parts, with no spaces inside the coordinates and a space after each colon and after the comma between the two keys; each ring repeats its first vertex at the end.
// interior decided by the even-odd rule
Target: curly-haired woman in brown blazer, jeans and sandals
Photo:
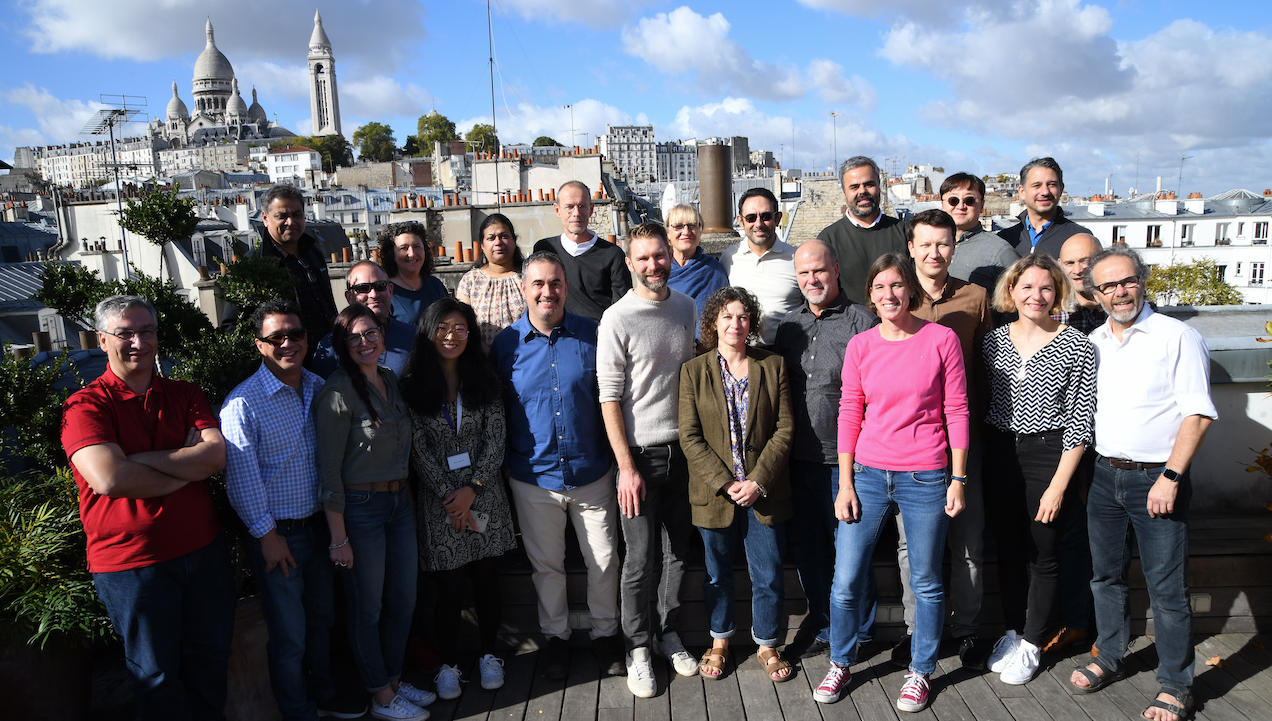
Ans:
{"type": "Polygon", "coordinates": [[[698,337],[715,348],[681,369],[681,446],[689,463],[693,525],[706,547],[703,595],[714,645],[700,673],[720,678],[734,632],[733,552],[745,539],[750,571],[750,636],[776,682],[791,668],[777,652],[785,587],[784,524],[791,516],[787,459],[794,418],[782,357],[750,348],[759,338],[759,304],[742,287],[722,287],[702,308],[698,337]]]}

